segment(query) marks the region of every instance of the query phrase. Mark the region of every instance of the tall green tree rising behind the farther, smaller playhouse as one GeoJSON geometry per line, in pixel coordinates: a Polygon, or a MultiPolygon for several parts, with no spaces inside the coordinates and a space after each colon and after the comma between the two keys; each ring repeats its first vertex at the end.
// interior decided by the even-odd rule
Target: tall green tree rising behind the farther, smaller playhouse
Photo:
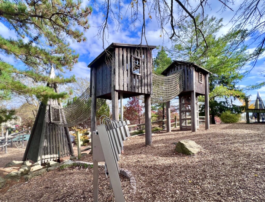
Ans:
{"type": "MultiPolygon", "coordinates": [[[[200,15],[196,16],[195,20],[199,19],[200,15]]],[[[215,123],[214,116],[219,115],[221,111],[218,110],[224,108],[220,107],[220,104],[233,111],[230,97],[245,96],[243,89],[237,88],[236,85],[245,76],[240,70],[254,57],[254,54],[246,52],[245,45],[238,46],[236,43],[240,43],[240,36],[245,34],[245,30],[236,30],[217,37],[218,31],[223,27],[222,19],[217,20],[208,16],[204,18],[204,24],[199,26],[204,35],[199,34],[195,40],[194,22],[185,21],[184,25],[180,25],[181,31],[178,32],[179,37],[173,39],[174,46],[171,53],[176,59],[196,62],[213,73],[209,78],[209,105],[212,122],[215,123]],[[207,48],[198,48],[197,43],[203,44],[205,39],[208,42],[207,48]],[[238,48],[231,52],[231,46],[238,48]],[[219,102],[221,98],[224,99],[223,102],[219,102]]]]}

